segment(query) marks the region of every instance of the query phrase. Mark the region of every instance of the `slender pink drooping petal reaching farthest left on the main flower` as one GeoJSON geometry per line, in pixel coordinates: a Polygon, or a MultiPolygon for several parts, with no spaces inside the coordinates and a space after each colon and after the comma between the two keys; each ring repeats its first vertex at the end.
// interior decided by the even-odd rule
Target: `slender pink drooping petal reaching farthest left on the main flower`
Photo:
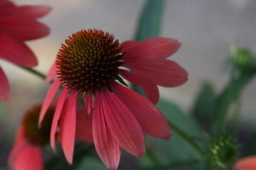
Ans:
{"type": "Polygon", "coordinates": [[[42,121],[45,116],[45,113],[46,113],[47,109],[49,108],[49,106],[52,102],[52,99],[53,99],[54,95],[56,94],[57,90],[59,89],[60,85],[61,85],[61,81],[57,79],[52,83],[50,89],[48,90],[46,97],[44,99],[44,103],[42,105],[42,109],[40,111],[38,127],[41,126],[42,121]]]}

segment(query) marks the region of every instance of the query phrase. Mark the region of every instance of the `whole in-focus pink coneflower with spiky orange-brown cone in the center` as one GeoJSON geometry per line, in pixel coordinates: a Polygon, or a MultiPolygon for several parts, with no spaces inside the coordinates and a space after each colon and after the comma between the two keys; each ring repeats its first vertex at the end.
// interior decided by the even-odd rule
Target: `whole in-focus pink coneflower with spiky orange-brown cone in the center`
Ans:
{"type": "Polygon", "coordinates": [[[72,164],[77,96],[84,98],[84,117],[92,115],[93,142],[109,169],[117,168],[120,148],[137,157],[145,154],[143,132],[169,139],[168,123],[154,104],[159,100],[157,85],[177,87],[188,80],[188,73],[179,64],[166,59],[179,47],[179,41],[171,38],[120,44],[108,32],[96,29],[82,30],[68,37],[47,76],[47,81],[57,78],[47,92],[40,113],[39,125],[56,91],[63,85],[52,120],[52,148],[55,148],[54,136],[61,117],[61,144],[68,163],[72,164]],[[124,79],[141,87],[148,99],[125,87],[124,79]]]}

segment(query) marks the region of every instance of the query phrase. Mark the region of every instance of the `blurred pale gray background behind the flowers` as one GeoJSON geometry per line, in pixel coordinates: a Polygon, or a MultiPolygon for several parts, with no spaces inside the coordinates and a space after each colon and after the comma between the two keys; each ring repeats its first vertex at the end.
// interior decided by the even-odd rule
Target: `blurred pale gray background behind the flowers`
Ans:
{"type": "MultiPolygon", "coordinates": [[[[132,39],[144,2],[15,0],[17,4],[52,7],[51,13],[40,19],[51,27],[51,34],[28,42],[39,60],[35,69],[43,73],[47,73],[61,43],[73,32],[95,28],[110,32],[121,42],[132,39]]],[[[229,75],[225,60],[231,45],[239,43],[256,53],[256,1],[166,1],[161,36],[179,39],[182,47],[170,59],[179,62],[189,73],[189,81],[182,87],[161,87],[161,97],[189,110],[203,81],[214,83],[217,92],[227,83],[229,75]]],[[[19,67],[3,60],[0,62],[12,86],[12,101],[0,105],[0,133],[11,138],[24,111],[44,100],[49,85],[19,67]]],[[[243,93],[243,120],[252,124],[256,118],[255,89],[256,81],[253,81],[243,93]]]]}

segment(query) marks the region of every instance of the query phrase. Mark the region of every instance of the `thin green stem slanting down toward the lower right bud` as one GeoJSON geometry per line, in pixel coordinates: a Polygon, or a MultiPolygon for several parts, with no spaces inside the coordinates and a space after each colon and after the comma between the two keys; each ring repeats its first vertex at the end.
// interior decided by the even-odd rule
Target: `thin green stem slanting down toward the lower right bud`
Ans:
{"type": "Polygon", "coordinates": [[[192,138],[190,138],[188,136],[188,134],[186,134],[184,131],[182,131],[181,129],[179,129],[179,127],[177,127],[176,125],[174,125],[172,122],[168,121],[168,124],[170,125],[170,127],[172,128],[173,131],[177,132],[177,134],[179,134],[179,136],[181,138],[183,138],[185,141],[187,141],[193,148],[195,148],[195,150],[200,154],[200,155],[204,155],[204,151],[195,143],[195,141],[193,141],[192,138]]]}

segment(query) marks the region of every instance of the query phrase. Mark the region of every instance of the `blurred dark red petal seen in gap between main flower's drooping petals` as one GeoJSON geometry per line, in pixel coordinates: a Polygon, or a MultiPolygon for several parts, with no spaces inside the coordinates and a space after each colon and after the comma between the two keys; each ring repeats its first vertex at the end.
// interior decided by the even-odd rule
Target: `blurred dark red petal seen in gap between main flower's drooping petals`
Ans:
{"type": "Polygon", "coordinates": [[[93,142],[92,115],[87,115],[85,108],[77,110],[76,115],[76,139],[86,143],[93,142]]]}

